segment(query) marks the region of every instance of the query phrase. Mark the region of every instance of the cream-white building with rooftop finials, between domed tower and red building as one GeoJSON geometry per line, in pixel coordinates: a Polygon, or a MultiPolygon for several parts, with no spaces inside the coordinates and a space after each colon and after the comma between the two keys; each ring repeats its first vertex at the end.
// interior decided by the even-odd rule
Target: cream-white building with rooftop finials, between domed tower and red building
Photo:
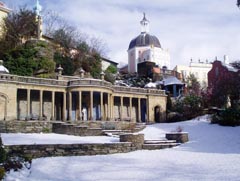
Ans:
{"type": "Polygon", "coordinates": [[[190,61],[189,66],[185,65],[177,65],[174,70],[182,73],[183,80],[186,80],[186,78],[190,74],[194,74],[194,76],[198,79],[201,87],[206,87],[208,84],[208,72],[212,69],[212,64],[209,63],[207,60],[205,62],[198,61],[193,62],[190,61]]]}

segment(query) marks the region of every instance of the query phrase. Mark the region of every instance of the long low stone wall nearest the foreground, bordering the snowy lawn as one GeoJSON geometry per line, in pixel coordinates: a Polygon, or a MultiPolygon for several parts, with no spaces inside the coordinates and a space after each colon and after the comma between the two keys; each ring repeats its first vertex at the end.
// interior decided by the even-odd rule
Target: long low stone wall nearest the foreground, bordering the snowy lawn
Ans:
{"type": "Polygon", "coordinates": [[[127,153],[137,150],[132,143],[104,144],[55,144],[55,145],[11,145],[4,146],[8,155],[28,158],[51,156],[84,156],[127,153]]]}

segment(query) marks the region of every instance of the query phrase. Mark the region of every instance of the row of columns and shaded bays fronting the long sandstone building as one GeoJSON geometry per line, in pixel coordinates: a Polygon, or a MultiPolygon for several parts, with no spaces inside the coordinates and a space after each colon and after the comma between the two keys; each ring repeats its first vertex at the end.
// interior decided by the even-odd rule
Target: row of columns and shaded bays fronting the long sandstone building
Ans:
{"type": "MultiPolygon", "coordinates": [[[[68,90],[68,91],[51,91],[51,90],[32,90],[32,89],[19,89],[17,91],[18,101],[18,117],[23,114],[20,109],[20,101],[26,102],[26,118],[31,119],[32,113],[38,113],[38,119],[51,120],[128,120],[141,122],[145,121],[143,115],[147,114],[148,111],[143,110],[143,106],[147,106],[146,98],[134,94],[114,94],[113,92],[103,92],[94,90],[68,90]],[[26,92],[26,96],[23,96],[26,92]],[[45,92],[48,92],[46,95],[45,92]],[[23,95],[22,95],[23,94],[23,95]],[[19,98],[21,97],[21,99],[19,98]],[[24,98],[26,97],[26,98],[24,98]],[[115,98],[120,99],[116,101],[115,98]],[[34,99],[35,105],[31,103],[34,99]],[[46,108],[44,103],[48,100],[46,108]],[[127,100],[128,113],[124,112],[124,101],[127,100]],[[133,101],[134,100],[134,101],[133,101]],[[38,106],[39,105],[39,106],[38,106]],[[114,106],[119,107],[119,112],[116,113],[114,106]],[[135,117],[133,116],[133,107],[135,107],[135,117]],[[84,114],[84,110],[86,111],[84,114]],[[144,111],[144,113],[143,113],[144,111]],[[96,117],[96,113],[99,113],[96,117]],[[116,114],[119,117],[116,117],[116,114]]],[[[126,102],[126,101],[125,101],[126,102]]],[[[25,106],[25,104],[24,104],[25,106]]],[[[146,108],[147,109],[147,108],[146,108]]],[[[24,109],[23,109],[24,110],[24,109]]],[[[25,111],[24,111],[25,112],[25,111]]],[[[24,113],[25,114],[25,113],[24,113]]]]}

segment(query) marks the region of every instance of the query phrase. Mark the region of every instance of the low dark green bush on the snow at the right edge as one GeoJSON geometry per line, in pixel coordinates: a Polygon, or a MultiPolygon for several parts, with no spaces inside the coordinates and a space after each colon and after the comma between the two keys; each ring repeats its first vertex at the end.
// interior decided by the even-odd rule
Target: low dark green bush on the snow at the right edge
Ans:
{"type": "Polygon", "coordinates": [[[228,108],[212,116],[212,123],[222,126],[239,126],[240,125],[240,109],[228,108]]]}

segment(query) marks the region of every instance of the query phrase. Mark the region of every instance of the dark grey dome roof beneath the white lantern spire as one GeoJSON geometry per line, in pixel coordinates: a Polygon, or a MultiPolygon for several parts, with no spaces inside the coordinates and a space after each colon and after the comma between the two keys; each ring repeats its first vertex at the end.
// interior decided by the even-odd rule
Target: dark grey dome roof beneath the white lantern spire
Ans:
{"type": "Polygon", "coordinates": [[[142,46],[150,46],[161,48],[161,44],[156,36],[150,35],[148,33],[141,33],[136,38],[132,39],[128,49],[132,49],[134,47],[142,47],[142,46]]]}

